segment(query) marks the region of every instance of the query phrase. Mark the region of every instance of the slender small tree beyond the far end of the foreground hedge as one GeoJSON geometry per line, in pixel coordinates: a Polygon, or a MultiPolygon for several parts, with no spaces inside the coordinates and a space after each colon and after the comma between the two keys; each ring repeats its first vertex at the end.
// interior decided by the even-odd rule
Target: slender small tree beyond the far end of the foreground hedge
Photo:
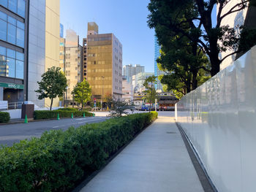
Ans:
{"type": "Polygon", "coordinates": [[[151,110],[151,104],[154,103],[155,99],[157,99],[157,91],[154,88],[154,85],[156,82],[157,82],[157,77],[153,75],[153,76],[147,77],[145,82],[143,83],[143,85],[146,88],[146,91],[145,91],[146,96],[144,97],[144,99],[146,99],[146,101],[148,101],[150,104],[149,112],[151,110]]]}

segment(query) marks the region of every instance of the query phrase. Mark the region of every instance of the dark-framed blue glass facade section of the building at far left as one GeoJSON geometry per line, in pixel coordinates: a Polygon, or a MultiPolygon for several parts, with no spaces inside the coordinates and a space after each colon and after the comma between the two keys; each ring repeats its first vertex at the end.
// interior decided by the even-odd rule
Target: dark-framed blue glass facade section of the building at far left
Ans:
{"type": "Polygon", "coordinates": [[[0,101],[24,100],[27,1],[0,0],[0,101]]]}

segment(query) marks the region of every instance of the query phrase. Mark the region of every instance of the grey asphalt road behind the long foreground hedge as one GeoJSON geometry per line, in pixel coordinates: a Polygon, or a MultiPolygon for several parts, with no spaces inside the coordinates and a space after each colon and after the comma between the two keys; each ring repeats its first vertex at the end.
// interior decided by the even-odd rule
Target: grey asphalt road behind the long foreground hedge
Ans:
{"type": "Polygon", "coordinates": [[[0,145],[12,146],[13,143],[31,137],[40,137],[45,131],[63,129],[67,130],[70,126],[77,128],[86,123],[98,123],[106,120],[102,117],[74,118],[61,120],[45,120],[29,123],[16,123],[0,126],[0,145]]]}

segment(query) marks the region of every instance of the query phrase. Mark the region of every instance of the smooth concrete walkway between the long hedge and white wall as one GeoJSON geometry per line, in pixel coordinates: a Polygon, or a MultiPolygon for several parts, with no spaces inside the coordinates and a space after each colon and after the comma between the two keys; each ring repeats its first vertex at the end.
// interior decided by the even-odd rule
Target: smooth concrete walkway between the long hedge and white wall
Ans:
{"type": "Polygon", "coordinates": [[[161,113],[84,191],[200,192],[203,188],[174,118],[161,113]]]}

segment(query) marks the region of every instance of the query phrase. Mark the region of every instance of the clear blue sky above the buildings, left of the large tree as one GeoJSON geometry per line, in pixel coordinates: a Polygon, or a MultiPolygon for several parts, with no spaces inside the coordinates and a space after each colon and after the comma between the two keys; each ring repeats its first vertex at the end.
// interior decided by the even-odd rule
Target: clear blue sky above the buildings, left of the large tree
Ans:
{"type": "Polygon", "coordinates": [[[154,30],[147,26],[150,0],[61,0],[60,19],[65,30],[86,37],[87,23],[94,21],[99,34],[113,33],[123,45],[123,65],[140,64],[154,72],[154,30]]]}

